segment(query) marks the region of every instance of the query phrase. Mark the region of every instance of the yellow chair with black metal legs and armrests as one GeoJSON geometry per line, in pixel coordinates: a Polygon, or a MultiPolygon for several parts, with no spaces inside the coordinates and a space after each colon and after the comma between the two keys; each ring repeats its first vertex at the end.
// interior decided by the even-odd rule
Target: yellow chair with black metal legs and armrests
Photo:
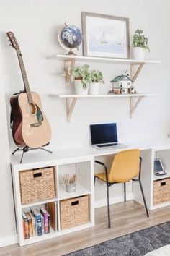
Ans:
{"type": "Polygon", "coordinates": [[[143,187],[140,180],[142,158],[140,157],[140,150],[125,150],[117,153],[113,159],[111,169],[107,172],[107,166],[100,161],[95,161],[104,166],[105,172],[94,174],[94,184],[96,178],[101,179],[107,185],[107,212],[108,212],[108,227],[110,228],[110,210],[109,210],[109,187],[113,184],[124,183],[124,201],[126,202],[126,182],[133,180],[139,182],[141,193],[143,196],[143,202],[146,208],[146,214],[148,215],[148,208],[146,205],[145,195],[143,193],[143,187]],[[138,176],[138,178],[135,178],[138,176]]]}

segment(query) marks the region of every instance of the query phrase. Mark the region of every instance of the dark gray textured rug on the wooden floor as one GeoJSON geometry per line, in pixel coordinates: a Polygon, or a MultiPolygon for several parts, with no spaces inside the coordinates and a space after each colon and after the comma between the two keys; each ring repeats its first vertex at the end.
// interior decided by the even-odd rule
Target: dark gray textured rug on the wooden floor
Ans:
{"type": "Polygon", "coordinates": [[[71,252],[67,256],[142,256],[166,244],[170,244],[170,222],[71,252]]]}

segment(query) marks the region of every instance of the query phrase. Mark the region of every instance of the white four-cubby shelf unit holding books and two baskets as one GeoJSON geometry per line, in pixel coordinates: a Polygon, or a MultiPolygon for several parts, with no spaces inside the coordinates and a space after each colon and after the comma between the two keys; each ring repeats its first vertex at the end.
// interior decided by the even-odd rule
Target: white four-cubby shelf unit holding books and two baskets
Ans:
{"type": "MultiPolygon", "coordinates": [[[[32,244],[34,242],[41,242],[46,239],[50,239],[56,236],[60,236],[62,234],[68,234],[73,231],[78,231],[81,229],[86,229],[91,226],[94,226],[94,188],[93,188],[93,159],[91,157],[86,158],[74,158],[72,160],[65,159],[64,161],[58,161],[57,159],[52,159],[48,161],[48,163],[44,164],[47,166],[54,166],[55,168],[55,197],[50,198],[48,200],[41,200],[38,202],[31,202],[22,205],[21,202],[21,191],[19,184],[19,171],[27,171],[35,168],[42,168],[43,164],[40,163],[24,163],[12,165],[12,180],[14,184],[14,198],[15,198],[15,209],[16,209],[16,217],[17,217],[17,231],[19,234],[19,244],[20,246],[24,246],[27,244],[32,244]],[[25,168],[27,166],[27,168],[25,168]],[[76,192],[69,193],[66,192],[65,184],[63,184],[63,175],[64,174],[73,174],[76,173],[78,176],[78,183],[76,185],[76,192]],[[84,195],[89,195],[89,222],[83,224],[81,226],[71,227],[70,229],[61,230],[61,216],[60,216],[60,202],[62,200],[69,200],[73,197],[83,197],[84,195]],[[40,236],[30,236],[29,239],[24,239],[23,234],[23,224],[22,224],[22,213],[30,212],[30,209],[39,210],[41,207],[46,208],[49,212],[49,208],[47,205],[55,202],[55,225],[51,225],[54,228],[50,229],[50,233],[42,234],[40,236]]],[[[51,210],[50,216],[53,215],[54,212],[51,210]]]]}

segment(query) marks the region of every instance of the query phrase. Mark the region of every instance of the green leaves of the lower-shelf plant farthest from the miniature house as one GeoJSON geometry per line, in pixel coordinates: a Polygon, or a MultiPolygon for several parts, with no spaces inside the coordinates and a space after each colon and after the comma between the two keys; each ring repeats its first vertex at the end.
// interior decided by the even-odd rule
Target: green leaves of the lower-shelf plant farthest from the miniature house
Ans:
{"type": "Polygon", "coordinates": [[[84,90],[88,87],[89,83],[91,82],[91,75],[89,72],[89,65],[84,64],[82,67],[72,67],[69,70],[71,74],[71,81],[73,82],[74,80],[81,80],[83,84],[84,90]]]}

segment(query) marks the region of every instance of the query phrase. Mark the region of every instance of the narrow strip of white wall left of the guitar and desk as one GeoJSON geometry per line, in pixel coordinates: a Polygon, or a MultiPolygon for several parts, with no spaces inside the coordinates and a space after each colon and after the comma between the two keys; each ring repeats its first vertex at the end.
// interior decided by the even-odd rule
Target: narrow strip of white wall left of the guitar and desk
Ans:
{"type": "MultiPolygon", "coordinates": [[[[1,51],[0,51],[1,55],[1,51]]],[[[0,178],[0,247],[1,237],[14,234],[16,232],[14,225],[14,205],[12,197],[12,179],[10,173],[10,153],[9,153],[9,140],[7,130],[7,119],[6,119],[6,105],[4,95],[4,79],[3,79],[3,68],[0,64],[0,163],[1,163],[1,178],[0,178]]],[[[5,241],[4,241],[5,242],[5,241]]]]}

